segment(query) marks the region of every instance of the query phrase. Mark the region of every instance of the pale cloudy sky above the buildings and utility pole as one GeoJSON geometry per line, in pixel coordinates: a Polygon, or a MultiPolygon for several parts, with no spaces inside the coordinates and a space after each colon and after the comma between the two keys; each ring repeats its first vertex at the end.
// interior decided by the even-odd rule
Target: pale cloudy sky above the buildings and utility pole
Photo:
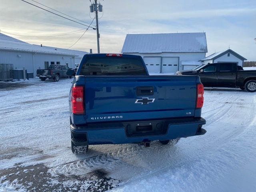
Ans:
{"type": "MultiPolygon", "coordinates": [[[[32,0],[26,1],[43,7],[32,0]]],[[[89,0],[36,1],[85,22],[90,23],[90,16],[94,17],[93,13],[89,15],[89,0]]],[[[206,56],[230,46],[248,61],[256,60],[256,0],[100,0],[100,3],[104,10],[99,13],[102,17],[99,20],[101,52],[120,52],[128,33],[206,32],[206,56]]],[[[86,26],[21,0],[0,0],[0,30],[3,33],[39,36],[84,28],[86,26]]],[[[68,48],[81,35],[52,38],[10,36],[32,44],[68,48]]],[[[88,30],[72,47],[87,52],[90,48],[96,53],[95,30],[88,30]]]]}

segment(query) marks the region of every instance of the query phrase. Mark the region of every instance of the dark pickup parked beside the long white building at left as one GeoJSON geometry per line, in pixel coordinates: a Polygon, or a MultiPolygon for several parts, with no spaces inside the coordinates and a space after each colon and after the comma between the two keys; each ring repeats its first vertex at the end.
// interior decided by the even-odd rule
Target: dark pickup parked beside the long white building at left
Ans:
{"type": "Polygon", "coordinates": [[[54,81],[59,81],[60,78],[71,77],[67,75],[67,70],[70,68],[66,65],[50,65],[48,69],[38,69],[36,70],[36,76],[40,80],[45,81],[46,78],[54,79],[54,81]]]}

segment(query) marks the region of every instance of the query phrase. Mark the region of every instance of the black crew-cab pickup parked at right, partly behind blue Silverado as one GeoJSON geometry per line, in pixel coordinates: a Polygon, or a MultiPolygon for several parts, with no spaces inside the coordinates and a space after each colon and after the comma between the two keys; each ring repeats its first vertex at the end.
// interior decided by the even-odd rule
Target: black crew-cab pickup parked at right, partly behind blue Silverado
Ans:
{"type": "Polygon", "coordinates": [[[198,75],[206,87],[239,87],[256,91],[256,70],[243,70],[236,63],[212,63],[193,70],[177,71],[176,75],[198,75]]]}

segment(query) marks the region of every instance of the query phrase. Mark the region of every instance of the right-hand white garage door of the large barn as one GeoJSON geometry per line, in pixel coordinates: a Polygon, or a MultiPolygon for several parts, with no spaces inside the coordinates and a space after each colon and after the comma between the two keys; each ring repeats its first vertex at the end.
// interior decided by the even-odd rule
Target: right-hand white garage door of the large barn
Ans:
{"type": "Polygon", "coordinates": [[[163,57],[162,73],[175,73],[178,71],[179,58],[178,57],[163,57]]]}

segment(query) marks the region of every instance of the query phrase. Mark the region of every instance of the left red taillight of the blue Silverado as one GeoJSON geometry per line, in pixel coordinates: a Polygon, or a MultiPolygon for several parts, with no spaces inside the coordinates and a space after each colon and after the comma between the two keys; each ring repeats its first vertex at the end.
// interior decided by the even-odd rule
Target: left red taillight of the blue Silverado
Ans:
{"type": "Polygon", "coordinates": [[[72,87],[71,108],[73,114],[84,114],[84,87],[72,87]]]}

